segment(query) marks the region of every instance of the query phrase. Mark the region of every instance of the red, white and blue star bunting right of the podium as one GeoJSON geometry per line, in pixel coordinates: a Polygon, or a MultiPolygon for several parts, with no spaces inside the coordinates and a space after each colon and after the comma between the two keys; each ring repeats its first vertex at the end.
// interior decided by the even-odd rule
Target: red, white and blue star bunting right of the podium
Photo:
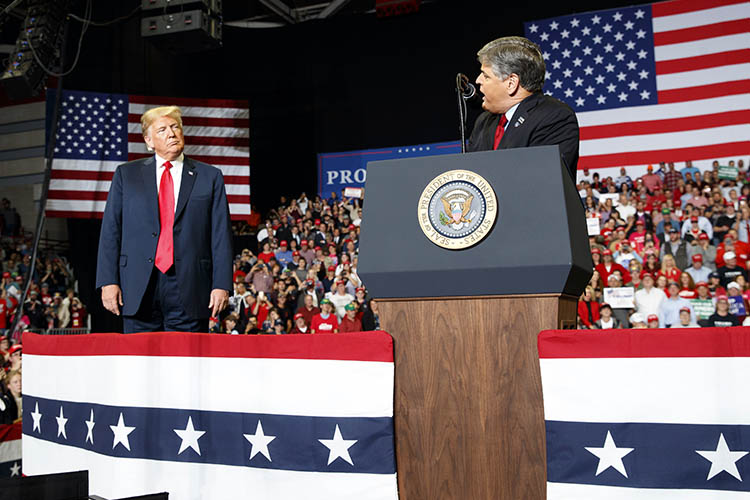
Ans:
{"type": "Polygon", "coordinates": [[[750,495],[746,328],[539,334],[549,500],[750,495]]]}

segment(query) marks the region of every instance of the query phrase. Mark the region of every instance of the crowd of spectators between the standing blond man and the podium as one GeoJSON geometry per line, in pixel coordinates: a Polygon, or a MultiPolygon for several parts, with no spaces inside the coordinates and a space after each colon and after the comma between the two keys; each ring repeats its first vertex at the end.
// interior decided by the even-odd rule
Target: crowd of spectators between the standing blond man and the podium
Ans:
{"type": "Polygon", "coordinates": [[[234,261],[229,307],[209,321],[231,334],[344,333],[380,328],[357,275],[362,200],[282,198],[257,227],[257,251],[234,261]]]}

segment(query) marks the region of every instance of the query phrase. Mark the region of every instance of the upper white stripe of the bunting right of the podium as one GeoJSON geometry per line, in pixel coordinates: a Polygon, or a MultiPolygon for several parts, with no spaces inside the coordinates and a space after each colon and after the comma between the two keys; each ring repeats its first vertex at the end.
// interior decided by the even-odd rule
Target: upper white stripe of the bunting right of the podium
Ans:
{"type": "Polygon", "coordinates": [[[674,357],[627,357],[637,345],[622,357],[542,359],[544,418],[750,425],[747,357],[682,356],[676,345],[674,357]],[[717,412],[716,401],[731,404],[717,412]]]}

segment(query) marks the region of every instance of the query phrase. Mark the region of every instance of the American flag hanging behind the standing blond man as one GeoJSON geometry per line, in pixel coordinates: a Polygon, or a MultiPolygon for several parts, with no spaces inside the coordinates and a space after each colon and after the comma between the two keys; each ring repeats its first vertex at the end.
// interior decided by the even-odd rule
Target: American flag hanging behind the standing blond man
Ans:
{"type": "MultiPolygon", "coordinates": [[[[47,95],[49,131],[55,93],[47,95]]],[[[156,106],[182,109],[185,155],[224,173],[233,219],[250,214],[250,139],[247,101],[178,99],[63,91],[48,217],[101,217],[118,165],[144,158],[140,117],[156,106]]],[[[48,133],[49,135],[49,133],[48,133]]]]}

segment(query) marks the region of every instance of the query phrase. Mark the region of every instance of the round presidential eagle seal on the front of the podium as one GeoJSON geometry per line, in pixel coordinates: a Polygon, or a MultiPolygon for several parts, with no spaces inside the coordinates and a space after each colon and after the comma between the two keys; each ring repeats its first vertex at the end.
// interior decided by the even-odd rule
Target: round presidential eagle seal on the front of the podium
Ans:
{"type": "Polygon", "coordinates": [[[482,241],[495,224],[497,212],[492,186],[469,170],[450,170],[435,177],[422,191],[417,206],[422,232],[450,250],[482,241]]]}

